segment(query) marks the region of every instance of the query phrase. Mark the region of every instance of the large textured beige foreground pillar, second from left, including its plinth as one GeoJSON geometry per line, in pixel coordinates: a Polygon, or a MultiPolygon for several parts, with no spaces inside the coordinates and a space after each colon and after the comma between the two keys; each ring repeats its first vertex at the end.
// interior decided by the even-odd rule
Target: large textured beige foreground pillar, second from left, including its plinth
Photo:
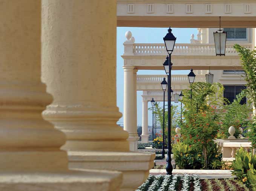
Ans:
{"type": "Polygon", "coordinates": [[[116,124],[116,1],[43,0],[42,20],[42,80],[54,96],[43,117],[67,135],[69,167],[122,171],[122,190],[135,190],[154,155],[129,152],[116,124]]]}

